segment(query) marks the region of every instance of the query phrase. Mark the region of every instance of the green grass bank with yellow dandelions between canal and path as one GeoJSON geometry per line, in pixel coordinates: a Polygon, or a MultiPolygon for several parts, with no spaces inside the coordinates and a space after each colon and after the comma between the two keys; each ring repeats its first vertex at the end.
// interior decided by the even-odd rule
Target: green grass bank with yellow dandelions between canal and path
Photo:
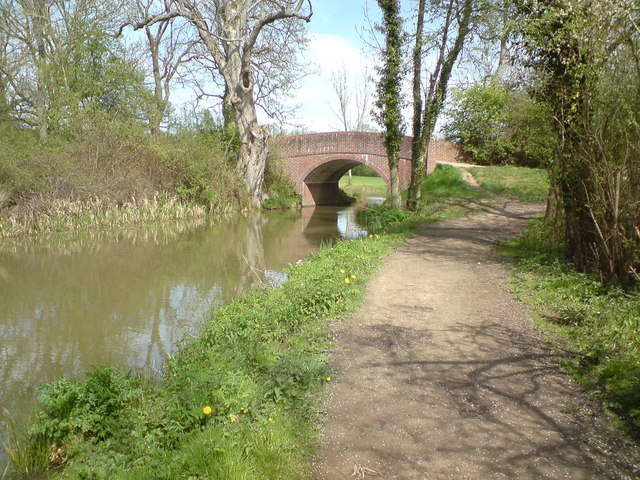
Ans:
{"type": "Polygon", "coordinates": [[[330,320],[357,308],[401,238],[322,248],[291,267],[282,287],[212,313],[160,379],[100,367],[84,382],[43,386],[29,433],[46,448],[38,443],[33,459],[14,451],[9,478],[43,457],[64,463],[54,477],[68,479],[311,478],[330,320]]]}

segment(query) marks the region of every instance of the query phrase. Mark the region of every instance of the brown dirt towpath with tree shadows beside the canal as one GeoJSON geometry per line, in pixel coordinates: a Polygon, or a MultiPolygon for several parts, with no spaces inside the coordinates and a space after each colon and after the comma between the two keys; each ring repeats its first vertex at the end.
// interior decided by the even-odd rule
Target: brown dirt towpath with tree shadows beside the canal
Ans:
{"type": "Polygon", "coordinates": [[[318,480],[640,478],[505,287],[493,245],[539,211],[432,225],[389,257],[336,327],[318,480]]]}

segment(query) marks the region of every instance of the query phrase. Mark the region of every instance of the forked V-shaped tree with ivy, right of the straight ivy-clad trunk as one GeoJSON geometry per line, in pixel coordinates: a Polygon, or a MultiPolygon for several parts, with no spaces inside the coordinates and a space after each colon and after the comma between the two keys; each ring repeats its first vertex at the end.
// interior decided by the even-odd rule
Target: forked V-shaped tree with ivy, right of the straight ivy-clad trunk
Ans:
{"type": "Polygon", "coordinates": [[[464,47],[474,21],[477,0],[438,0],[430,7],[439,25],[434,44],[424,38],[424,20],[427,11],[425,1],[418,4],[413,70],[413,145],[411,150],[411,184],[407,208],[415,210],[420,201],[420,189],[426,173],[429,140],[447,96],[453,67],[464,47]],[[422,58],[431,52],[436,55],[433,70],[429,74],[428,89],[421,94],[422,58]],[[424,102],[422,101],[424,98],[424,102]],[[416,100],[418,99],[418,100],[416,100]]]}

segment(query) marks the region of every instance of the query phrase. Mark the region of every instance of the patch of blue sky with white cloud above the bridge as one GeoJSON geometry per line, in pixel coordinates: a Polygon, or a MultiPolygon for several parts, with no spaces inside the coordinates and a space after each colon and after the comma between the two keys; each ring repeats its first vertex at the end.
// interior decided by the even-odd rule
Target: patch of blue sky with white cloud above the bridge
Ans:
{"type": "MultiPolygon", "coordinates": [[[[305,77],[291,93],[291,105],[299,105],[292,125],[309,132],[330,132],[341,129],[334,113],[337,97],[331,86],[332,73],[346,68],[347,81],[362,82],[373,73],[375,57],[365,53],[359,32],[368,27],[365,8],[374,20],[379,17],[373,0],[315,0],[309,23],[309,47],[303,61],[312,63],[312,73],[305,77]]],[[[371,84],[371,92],[375,86],[371,84]]],[[[367,111],[371,110],[368,108],[367,111]]],[[[266,121],[266,119],[261,119],[266,121]]],[[[372,124],[370,119],[368,122],[372,124]]]]}

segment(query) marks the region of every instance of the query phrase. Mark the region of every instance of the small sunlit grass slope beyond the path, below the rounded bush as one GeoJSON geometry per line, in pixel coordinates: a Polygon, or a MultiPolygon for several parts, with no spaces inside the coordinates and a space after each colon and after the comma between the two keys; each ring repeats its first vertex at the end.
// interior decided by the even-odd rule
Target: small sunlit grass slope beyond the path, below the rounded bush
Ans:
{"type": "Polygon", "coordinates": [[[525,203],[547,200],[549,178],[545,170],[525,167],[470,168],[480,186],[490,192],[516,198],[525,203]]]}

